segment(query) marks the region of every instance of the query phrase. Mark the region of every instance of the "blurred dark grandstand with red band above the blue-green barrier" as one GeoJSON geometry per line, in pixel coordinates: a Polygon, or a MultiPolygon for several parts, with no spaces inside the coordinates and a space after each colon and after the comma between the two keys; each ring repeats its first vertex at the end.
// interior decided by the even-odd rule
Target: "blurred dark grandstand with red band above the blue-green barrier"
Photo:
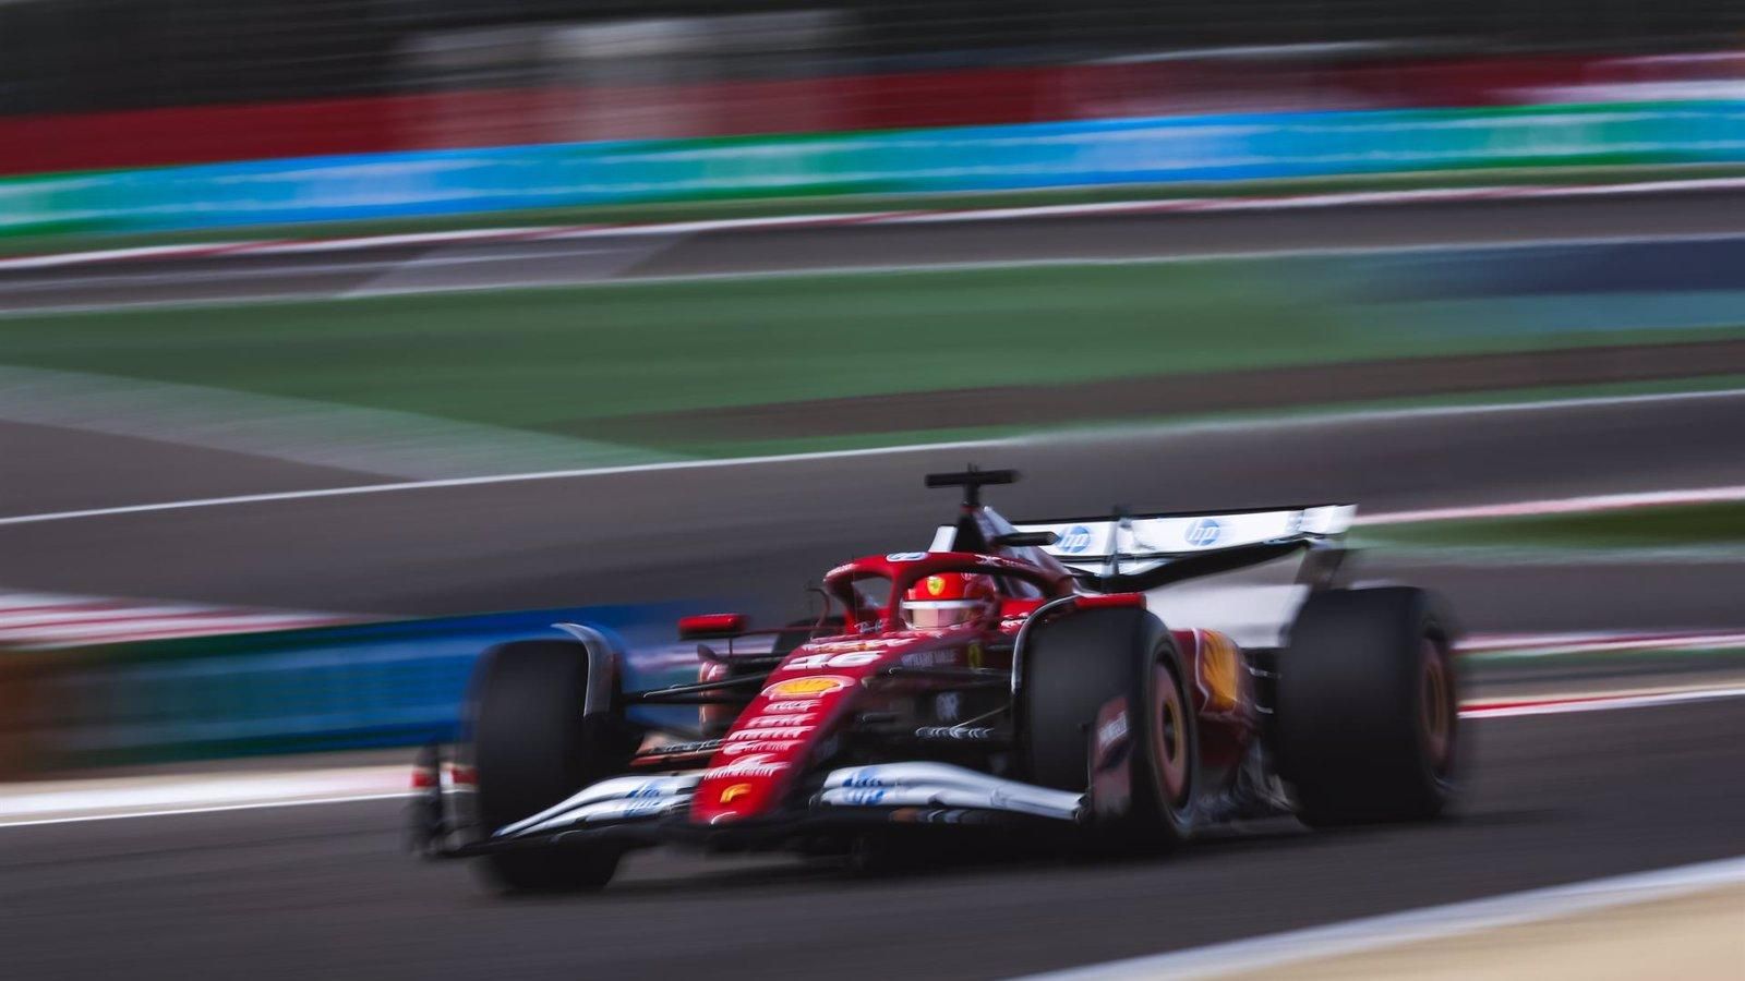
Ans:
{"type": "Polygon", "coordinates": [[[1745,5],[3,0],[0,173],[1255,110],[1738,98],[1745,5]]]}

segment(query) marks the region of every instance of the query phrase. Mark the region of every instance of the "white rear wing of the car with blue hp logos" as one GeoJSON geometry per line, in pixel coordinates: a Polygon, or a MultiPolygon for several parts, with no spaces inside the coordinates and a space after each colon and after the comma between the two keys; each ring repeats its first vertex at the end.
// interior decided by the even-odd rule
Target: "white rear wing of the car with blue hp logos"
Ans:
{"type": "Polygon", "coordinates": [[[1300,581],[1331,578],[1345,555],[1340,538],[1354,504],[1223,513],[1108,515],[1021,522],[1021,532],[1052,532],[1040,546],[1085,585],[1105,592],[1150,590],[1307,552],[1300,581]]]}

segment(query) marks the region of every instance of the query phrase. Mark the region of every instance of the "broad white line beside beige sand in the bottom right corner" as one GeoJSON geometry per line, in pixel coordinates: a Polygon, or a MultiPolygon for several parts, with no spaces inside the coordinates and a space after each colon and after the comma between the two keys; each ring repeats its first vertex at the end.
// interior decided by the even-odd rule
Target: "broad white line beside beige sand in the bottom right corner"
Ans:
{"type": "Polygon", "coordinates": [[[1745,857],[1534,888],[1473,902],[1431,906],[1288,934],[1031,974],[1021,981],[1136,981],[1141,978],[1181,979],[1276,972],[1307,960],[1536,923],[1576,913],[1707,892],[1740,882],[1745,882],[1745,857]]]}

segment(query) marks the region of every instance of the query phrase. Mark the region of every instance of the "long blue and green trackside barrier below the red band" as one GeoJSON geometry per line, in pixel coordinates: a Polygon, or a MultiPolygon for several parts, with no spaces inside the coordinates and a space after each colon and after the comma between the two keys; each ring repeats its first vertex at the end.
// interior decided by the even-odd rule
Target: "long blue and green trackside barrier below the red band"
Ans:
{"type": "Polygon", "coordinates": [[[1745,161],[1740,101],[1112,119],[37,175],[0,182],[0,234],[722,197],[1736,161],[1745,161]]]}

